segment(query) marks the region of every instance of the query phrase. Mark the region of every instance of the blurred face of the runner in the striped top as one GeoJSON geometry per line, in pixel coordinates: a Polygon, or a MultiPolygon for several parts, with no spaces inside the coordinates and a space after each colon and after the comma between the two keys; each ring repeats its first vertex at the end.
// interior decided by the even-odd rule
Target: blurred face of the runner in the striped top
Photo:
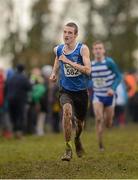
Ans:
{"type": "Polygon", "coordinates": [[[92,49],[95,58],[102,58],[105,55],[105,48],[103,44],[96,44],[92,49]]]}

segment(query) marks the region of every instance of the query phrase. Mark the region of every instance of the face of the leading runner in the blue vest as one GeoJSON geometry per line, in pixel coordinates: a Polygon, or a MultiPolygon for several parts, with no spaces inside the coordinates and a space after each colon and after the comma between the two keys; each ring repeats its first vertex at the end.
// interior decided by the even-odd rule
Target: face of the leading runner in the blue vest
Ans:
{"type": "Polygon", "coordinates": [[[77,34],[75,34],[73,27],[65,26],[63,31],[63,40],[65,44],[70,44],[76,40],[77,34]]]}

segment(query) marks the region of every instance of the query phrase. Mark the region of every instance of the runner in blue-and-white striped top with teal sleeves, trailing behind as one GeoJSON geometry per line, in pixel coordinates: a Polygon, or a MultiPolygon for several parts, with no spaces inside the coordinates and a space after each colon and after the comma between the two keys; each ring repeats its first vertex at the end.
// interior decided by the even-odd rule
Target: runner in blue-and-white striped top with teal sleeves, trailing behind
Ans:
{"type": "Polygon", "coordinates": [[[97,41],[93,44],[92,84],[93,109],[96,118],[96,132],[99,149],[104,150],[103,131],[112,126],[115,106],[115,90],[121,81],[121,75],[112,58],[105,56],[104,44],[97,41]]]}

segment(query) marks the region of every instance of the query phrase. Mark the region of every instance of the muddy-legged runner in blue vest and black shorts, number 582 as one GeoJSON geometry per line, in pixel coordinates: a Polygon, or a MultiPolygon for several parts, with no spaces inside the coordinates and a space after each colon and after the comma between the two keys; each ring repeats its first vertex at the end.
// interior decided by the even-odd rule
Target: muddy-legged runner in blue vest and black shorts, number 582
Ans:
{"type": "Polygon", "coordinates": [[[78,27],[70,22],[64,26],[64,44],[58,45],[54,51],[55,63],[50,79],[57,80],[59,70],[60,103],[63,109],[62,125],[65,137],[65,153],[63,161],[72,158],[72,120],[76,123],[75,147],[78,157],[84,153],[80,135],[87,112],[88,76],[91,73],[89,49],[86,45],[76,41],[78,27]]]}

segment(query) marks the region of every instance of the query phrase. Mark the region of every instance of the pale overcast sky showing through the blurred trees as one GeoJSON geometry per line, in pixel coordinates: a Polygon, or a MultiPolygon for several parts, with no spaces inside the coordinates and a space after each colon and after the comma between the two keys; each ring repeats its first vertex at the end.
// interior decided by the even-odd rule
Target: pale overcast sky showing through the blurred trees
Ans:
{"type": "MultiPolygon", "coordinates": [[[[0,19],[0,48],[2,46],[3,40],[7,37],[7,34],[9,31],[16,32],[17,29],[20,29],[20,39],[23,42],[26,42],[27,36],[26,32],[31,28],[32,26],[32,20],[31,20],[31,7],[37,0],[3,0],[0,2],[0,14],[3,18],[0,19]],[[14,12],[7,10],[7,2],[13,2],[14,4],[14,12]],[[9,22],[8,21],[10,17],[9,22]]],[[[97,4],[103,3],[103,1],[107,0],[95,0],[97,4]]],[[[74,11],[74,13],[67,15],[67,17],[64,19],[63,24],[69,22],[69,21],[75,21],[80,29],[79,39],[83,39],[83,23],[85,23],[84,17],[84,11],[87,9],[82,7],[81,3],[79,3],[80,0],[74,0],[73,6],[77,6],[77,9],[79,11],[74,11]],[[79,15],[78,15],[79,14],[79,15]],[[78,18],[79,17],[79,18],[78,18]]],[[[60,35],[55,32],[55,27],[58,26],[58,17],[60,16],[64,3],[66,3],[66,0],[51,0],[50,8],[53,11],[53,14],[51,15],[51,27],[50,31],[47,30],[46,34],[49,38],[57,38],[57,40],[62,41],[62,33],[60,35]]],[[[45,30],[44,30],[45,31],[45,30]]],[[[0,66],[6,66],[9,64],[10,54],[7,54],[7,57],[0,57],[0,66]],[[4,60],[6,58],[6,61],[4,60]],[[4,63],[4,65],[3,65],[4,63]]]]}

